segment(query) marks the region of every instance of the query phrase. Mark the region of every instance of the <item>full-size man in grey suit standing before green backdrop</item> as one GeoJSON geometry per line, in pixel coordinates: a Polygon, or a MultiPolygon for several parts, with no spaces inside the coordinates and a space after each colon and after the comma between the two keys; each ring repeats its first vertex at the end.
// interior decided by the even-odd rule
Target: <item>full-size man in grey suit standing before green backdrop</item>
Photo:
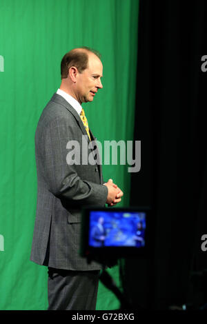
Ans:
{"type": "Polygon", "coordinates": [[[93,101],[103,88],[102,73],[94,50],[76,48],[64,55],[60,88],[35,133],[37,214],[30,259],[48,266],[48,310],[95,310],[101,265],[79,256],[81,208],[115,205],[123,196],[112,179],[103,183],[97,155],[86,163],[95,138],[81,103],[93,101]],[[79,144],[75,161],[68,155],[71,143],[79,144]]]}

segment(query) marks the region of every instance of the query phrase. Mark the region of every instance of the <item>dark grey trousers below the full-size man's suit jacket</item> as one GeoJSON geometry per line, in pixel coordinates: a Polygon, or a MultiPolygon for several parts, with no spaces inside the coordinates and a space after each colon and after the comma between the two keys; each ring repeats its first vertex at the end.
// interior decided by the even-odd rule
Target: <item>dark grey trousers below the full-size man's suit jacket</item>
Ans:
{"type": "Polygon", "coordinates": [[[99,270],[48,267],[48,310],[95,310],[99,270]]]}

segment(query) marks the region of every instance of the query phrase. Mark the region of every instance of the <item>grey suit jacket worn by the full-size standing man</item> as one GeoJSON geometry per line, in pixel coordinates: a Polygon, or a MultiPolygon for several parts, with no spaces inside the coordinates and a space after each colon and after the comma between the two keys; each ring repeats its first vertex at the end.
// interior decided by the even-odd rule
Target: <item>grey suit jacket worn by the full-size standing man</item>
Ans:
{"type": "MultiPolygon", "coordinates": [[[[101,269],[99,263],[88,264],[79,256],[81,207],[104,207],[108,195],[101,165],[68,165],[66,161],[67,143],[74,140],[79,142],[81,161],[82,135],[89,143],[79,114],[63,97],[54,94],[35,133],[37,213],[30,260],[40,265],[66,270],[101,269]]],[[[92,150],[89,148],[86,154],[91,156],[92,150]]]]}

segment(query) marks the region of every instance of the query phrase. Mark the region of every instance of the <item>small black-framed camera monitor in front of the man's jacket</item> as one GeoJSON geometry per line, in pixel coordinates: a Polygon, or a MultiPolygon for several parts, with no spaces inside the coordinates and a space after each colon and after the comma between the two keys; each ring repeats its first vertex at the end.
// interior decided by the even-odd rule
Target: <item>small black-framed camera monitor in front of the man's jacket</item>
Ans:
{"type": "Polygon", "coordinates": [[[145,255],[149,221],[147,207],[86,208],[82,213],[81,255],[145,255]]]}

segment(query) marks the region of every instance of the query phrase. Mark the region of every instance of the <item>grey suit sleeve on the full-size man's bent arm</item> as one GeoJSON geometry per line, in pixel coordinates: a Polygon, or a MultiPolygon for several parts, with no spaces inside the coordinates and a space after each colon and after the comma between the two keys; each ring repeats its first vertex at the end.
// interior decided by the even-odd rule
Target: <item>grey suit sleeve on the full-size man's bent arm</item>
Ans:
{"type": "MultiPolygon", "coordinates": [[[[43,125],[43,123],[42,123],[43,125]]],[[[104,205],[108,188],[93,181],[83,180],[84,172],[90,173],[95,166],[68,165],[68,141],[80,141],[78,125],[67,119],[56,118],[47,125],[39,125],[35,135],[36,161],[41,178],[48,190],[60,199],[66,199],[72,205],[104,205]]],[[[81,154],[81,152],[80,152],[81,154]]],[[[79,157],[75,156],[75,159],[79,157]]],[[[87,179],[87,176],[85,176],[87,179]]]]}

